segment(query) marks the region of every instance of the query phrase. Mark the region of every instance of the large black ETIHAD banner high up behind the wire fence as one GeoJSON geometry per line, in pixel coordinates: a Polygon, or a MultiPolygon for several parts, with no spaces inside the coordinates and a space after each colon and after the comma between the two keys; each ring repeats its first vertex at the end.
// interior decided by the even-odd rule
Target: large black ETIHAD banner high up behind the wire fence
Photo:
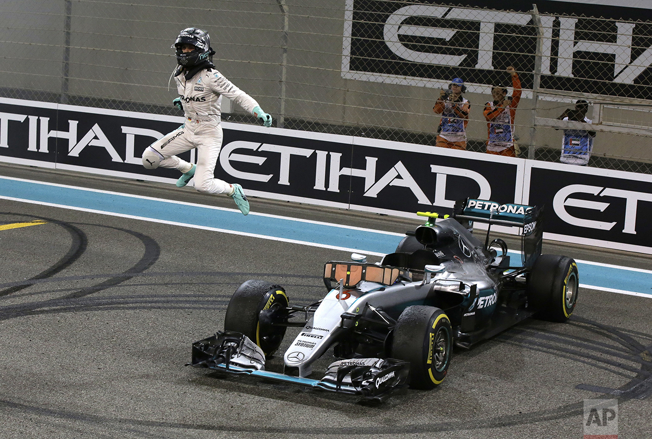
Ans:
{"type": "Polygon", "coordinates": [[[637,98],[652,85],[645,74],[652,65],[649,22],[576,18],[571,2],[554,3],[560,3],[554,5],[559,12],[537,14],[537,23],[529,11],[494,10],[499,4],[489,0],[475,2],[476,7],[348,1],[342,77],[441,87],[461,67],[474,78],[468,90],[487,93],[494,72],[507,65],[503,58],[529,76],[538,57],[550,89],[600,93],[604,82],[613,82],[630,85],[617,93],[637,98]],[[539,45],[532,44],[537,24],[539,45]]]}

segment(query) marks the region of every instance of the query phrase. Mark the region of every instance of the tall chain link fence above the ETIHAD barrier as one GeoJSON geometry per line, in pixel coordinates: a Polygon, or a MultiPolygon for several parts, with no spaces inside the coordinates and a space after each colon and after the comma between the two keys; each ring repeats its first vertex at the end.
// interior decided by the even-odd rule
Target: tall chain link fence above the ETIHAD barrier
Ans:
{"type": "MultiPolygon", "coordinates": [[[[523,10],[474,4],[3,2],[0,96],[177,114],[170,46],[196,26],[209,31],[218,70],[277,127],[434,146],[434,102],[462,78],[471,102],[467,149],[482,152],[482,110],[492,86],[512,94],[506,69],[514,67],[522,82],[519,157],[558,162],[570,126],[559,117],[586,100],[596,132],[589,166],[652,173],[652,20],[642,20],[649,10],[611,8],[619,15],[604,18],[565,10],[569,2],[523,10]]],[[[225,107],[223,120],[256,123],[225,107]]]]}

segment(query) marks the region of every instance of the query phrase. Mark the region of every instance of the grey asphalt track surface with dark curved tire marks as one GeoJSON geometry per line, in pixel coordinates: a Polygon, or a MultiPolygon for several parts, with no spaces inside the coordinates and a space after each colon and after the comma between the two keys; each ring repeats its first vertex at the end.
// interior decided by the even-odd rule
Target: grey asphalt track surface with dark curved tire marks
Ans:
{"type": "MultiPolygon", "coordinates": [[[[230,198],[162,183],[5,164],[0,175],[233,208],[230,198]]],[[[252,212],[396,234],[419,224],[251,201],[252,212]]],[[[325,294],[324,262],[348,251],[6,199],[0,250],[3,438],[579,438],[587,399],[618,400],[619,437],[651,436],[645,295],[580,288],[566,324],[526,320],[456,350],[434,391],[370,405],[185,367],[192,342],[222,329],[241,282],[269,280],[292,303],[310,303],[325,294]]],[[[650,256],[548,241],[544,253],[652,267],[650,256]]],[[[268,369],[281,365],[274,357],[268,369]]]]}

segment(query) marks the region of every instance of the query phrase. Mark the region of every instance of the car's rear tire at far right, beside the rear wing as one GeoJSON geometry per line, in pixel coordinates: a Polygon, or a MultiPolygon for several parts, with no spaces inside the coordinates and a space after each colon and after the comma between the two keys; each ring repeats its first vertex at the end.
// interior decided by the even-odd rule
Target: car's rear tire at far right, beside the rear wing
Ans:
{"type": "Polygon", "coordinates": [[[577,303],[580,285],[577,264],[567,256],[542,254],[527,278],[528,306],[539,311],[535,316],[552,322],[565,322],[577,303]]]}

